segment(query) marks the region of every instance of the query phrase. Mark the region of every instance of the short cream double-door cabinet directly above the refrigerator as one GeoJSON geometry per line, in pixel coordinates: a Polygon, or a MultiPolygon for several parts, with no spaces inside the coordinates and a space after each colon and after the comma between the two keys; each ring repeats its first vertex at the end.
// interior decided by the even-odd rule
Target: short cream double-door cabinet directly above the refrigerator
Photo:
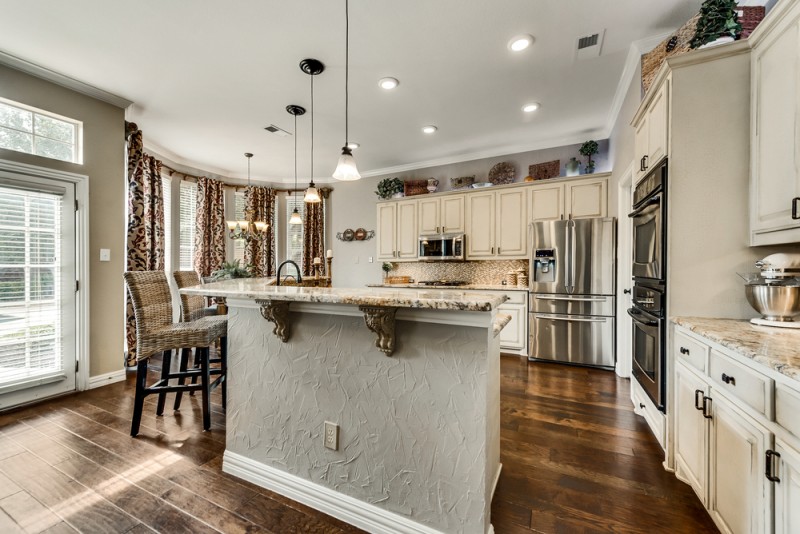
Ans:
{"type": "Polygon", "coordinates": [[[531,222],[605,217],[608,213],[608,178],[583,178],[530,188],[531,222]]]}

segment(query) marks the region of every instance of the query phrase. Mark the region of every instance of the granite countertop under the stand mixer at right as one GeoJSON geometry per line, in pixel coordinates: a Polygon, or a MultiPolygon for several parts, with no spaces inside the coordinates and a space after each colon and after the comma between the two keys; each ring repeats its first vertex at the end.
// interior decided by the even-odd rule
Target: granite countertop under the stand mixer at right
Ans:
{"type": "Polygon", "coordinates": [[[737,354],[800,380],[800,329],[754,325],[744,319],[673,317],[672,322],[737,354]]]}

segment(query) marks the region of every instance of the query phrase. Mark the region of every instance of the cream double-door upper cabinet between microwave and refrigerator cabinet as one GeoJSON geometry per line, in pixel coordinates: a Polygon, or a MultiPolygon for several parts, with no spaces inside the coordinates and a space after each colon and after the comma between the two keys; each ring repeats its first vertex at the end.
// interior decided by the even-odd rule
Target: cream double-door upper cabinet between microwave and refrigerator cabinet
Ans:
{"type": "Polygon", "coordinates": [[[527,201],[524,188],[466,195],[467,259],[525,259],[527,201]]]}

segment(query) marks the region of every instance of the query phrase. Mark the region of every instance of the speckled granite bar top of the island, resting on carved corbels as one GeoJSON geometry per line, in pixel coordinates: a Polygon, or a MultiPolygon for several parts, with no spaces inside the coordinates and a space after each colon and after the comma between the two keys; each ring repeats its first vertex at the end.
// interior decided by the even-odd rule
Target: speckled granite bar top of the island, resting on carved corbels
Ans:
{"type": "Polygon", "coordinates": [[[330,288],[271,285],[270,279],[237,278],[180,290],[186,295],[209,297],[272,299],[291,302],[321,302],[424,308],[434,310],[490,311],[508,300],[506,295],[476,293],[459,289],[330,288]]]}

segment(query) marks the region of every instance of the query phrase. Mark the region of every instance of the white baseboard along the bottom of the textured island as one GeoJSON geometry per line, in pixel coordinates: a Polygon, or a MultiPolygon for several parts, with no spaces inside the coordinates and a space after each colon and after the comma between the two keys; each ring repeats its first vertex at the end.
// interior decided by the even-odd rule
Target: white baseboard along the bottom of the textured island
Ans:
{"type": "MultiPolygon", "coordinates": [[[[441,534],[440,531],[350,497],[326,486],[225,451],[222,470],[262,488],[279,493],[315,510],[341,519],[367,532],[386,534],[441,534]]],[[[494,529],[489,526],[488,534],[494,529]]]]}

